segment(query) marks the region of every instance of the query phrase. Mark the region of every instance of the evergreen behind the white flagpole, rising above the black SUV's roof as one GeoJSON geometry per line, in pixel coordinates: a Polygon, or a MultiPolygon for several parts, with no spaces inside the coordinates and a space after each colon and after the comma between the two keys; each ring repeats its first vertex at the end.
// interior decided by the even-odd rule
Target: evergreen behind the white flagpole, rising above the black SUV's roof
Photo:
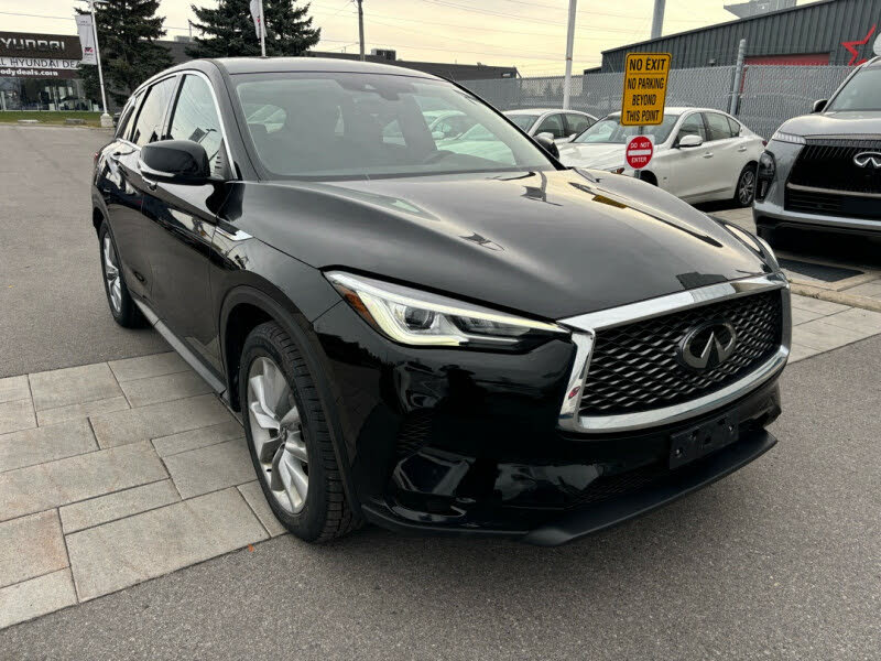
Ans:
{"type": "MultiPolygon", "coordinates": [[[[320,39],[320,28],[312,26],[309,6],[297,0],[263,0],[267,22],[267,55],[302,55],[320,39]]],[[[217,9],[191,6],[202,36],[187,48],[191,57],[236,57],[260,55],[249,0],[219,0],[217,9]]]]}

